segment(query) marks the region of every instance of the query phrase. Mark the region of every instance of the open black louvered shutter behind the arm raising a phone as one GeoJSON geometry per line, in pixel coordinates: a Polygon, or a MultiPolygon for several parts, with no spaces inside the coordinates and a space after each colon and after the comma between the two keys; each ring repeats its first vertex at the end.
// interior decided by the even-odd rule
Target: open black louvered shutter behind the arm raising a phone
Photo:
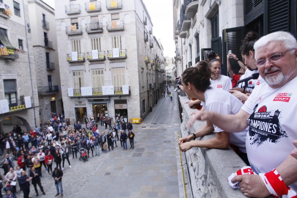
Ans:
{"type": "MultiPolygon", "coordinates": [[[[236,28],[228,28],[224,29],[222,32],[223,35],[223,53],[222,53],[222,61],[223,61],[223,74],[227,75],[227,55],[228,51],[232,50],[232,53],[237,56],[239,60],[242,61],[240,46],[242,40],[244,39],[244,26],[236,27],[236,28]]],[[[240,66],[238,62],[234,59],[230,59],[231,68],[234,74],[238,74],[240,66]]]]}

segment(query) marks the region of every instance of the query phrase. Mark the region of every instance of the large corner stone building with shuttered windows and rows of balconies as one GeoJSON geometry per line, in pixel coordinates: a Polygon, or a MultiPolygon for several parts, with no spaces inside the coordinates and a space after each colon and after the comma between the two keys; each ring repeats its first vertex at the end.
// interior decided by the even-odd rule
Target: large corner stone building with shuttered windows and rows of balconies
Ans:
{"type": "Polygon", "coordinates": [[[165,64],[143,2],[56,0],[55,7],[65,118],[145,118],[164,89],[165,64]]]}

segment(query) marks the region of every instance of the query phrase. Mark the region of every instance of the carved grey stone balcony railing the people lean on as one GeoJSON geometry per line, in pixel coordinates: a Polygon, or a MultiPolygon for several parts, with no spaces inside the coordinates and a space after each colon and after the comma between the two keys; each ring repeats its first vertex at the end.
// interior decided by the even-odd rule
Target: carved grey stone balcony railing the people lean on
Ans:
{"type": "MultiPolygon", "coordinates": [[[[205,121],[195,121],[191,129],[187,129],[187,122],[192,112],[196,109],[190,109],[186,96],[179,97],[181,104],[181,133],[180,137],[186,137],[201,129],[205,125],[205,121]]],[[[208,140],[216,135],[209,134],[196,140],[208,140]]],[[[192,148],[186,151],[185,158],[187,164],[183,165],[184,170],[189,176],[189,185],[186,188],[192,189],[191,197],[236,197],[244,198],[244,194],[240,189],[232,189],[227,178],[240,168],[246,166],[242,159],[229,147],[228,150],[208,149],[208,148],[192,148]],[[187,168],[186,168],[187,167],[187,168]]],[[[187,182],[186,182],[187,183],[187,182]]],[[[189,192],[189,190],[187,190],[189,192]]],[[[188,196],[190,197],[190,196],[188,196]]]]}

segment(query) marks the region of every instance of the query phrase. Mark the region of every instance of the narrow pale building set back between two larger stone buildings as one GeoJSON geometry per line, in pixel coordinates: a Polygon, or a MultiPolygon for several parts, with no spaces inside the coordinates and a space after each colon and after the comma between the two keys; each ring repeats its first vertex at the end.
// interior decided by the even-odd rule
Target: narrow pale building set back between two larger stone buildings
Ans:
{"type": "Polygon", "coordinates": [[[29,0],[29,18],[39,99],[40,120],[62,113],[55,10],[41,0],[29,0]]]}

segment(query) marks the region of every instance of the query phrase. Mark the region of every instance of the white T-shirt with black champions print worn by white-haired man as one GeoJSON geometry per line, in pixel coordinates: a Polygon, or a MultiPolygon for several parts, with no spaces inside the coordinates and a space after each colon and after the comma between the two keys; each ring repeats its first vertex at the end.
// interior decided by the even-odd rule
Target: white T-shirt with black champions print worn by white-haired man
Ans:
{"type": "MultiPolygon", "coordinates": [[[[251,114],[248,119],[247,156],[252,169],[266,173],[281,164],[295,148],[297,77],[280,88],[263,83],[254,89],[242,110],[251,114]]],[[[297,182],[290,185],[297,191],[297,182]]]]}

